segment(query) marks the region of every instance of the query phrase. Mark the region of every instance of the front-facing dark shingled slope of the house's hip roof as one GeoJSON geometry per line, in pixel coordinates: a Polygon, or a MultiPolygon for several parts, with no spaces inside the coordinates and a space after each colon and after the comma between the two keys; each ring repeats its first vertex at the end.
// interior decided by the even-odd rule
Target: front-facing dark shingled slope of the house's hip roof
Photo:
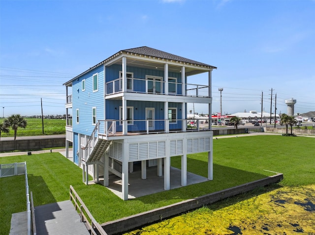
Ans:
{"type": "Polygon", "coordinates": [[[153,57],[158,57],[162,59],[169,59],[169,60],[175,60],[175,61],[181,61],[181,62],[186,62],[190,64],[197,64],[197,65],[202,65],[202,66],[209,66],[212,68],[217,68],[215,66],[209,65],[209,64],[204,64],[195,60],[187,59],[182,56],[178,56],[175,54],[167,53],[167,52],[162,52],[154,48],[150,47],[137,47],[137,48],[132,48],[132,49],[127,49],[127,50],[122,50],[122,52],[129,52],[129,53],[135,53],[135,54],[142,54],[142,55],[148,55],[148,56],[153,56],[153,57]]]}

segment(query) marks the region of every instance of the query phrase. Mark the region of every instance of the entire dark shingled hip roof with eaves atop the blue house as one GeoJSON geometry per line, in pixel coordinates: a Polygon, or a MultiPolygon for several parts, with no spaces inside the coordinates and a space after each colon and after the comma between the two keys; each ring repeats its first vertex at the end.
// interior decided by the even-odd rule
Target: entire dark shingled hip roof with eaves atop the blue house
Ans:
{"type": "Polygon", "coordinates": [[[121,50],[121,51],[115,53],[114,55],[112,55],[112,56],[108,57],[107,59],[103,60],[102,62],[96,64],[95,66],[91,67],[90,69],[83,72],[82,74],[80,74],[80,75],[72,78],[71,80],[65,82],[63,85],[72,82],[73,80],[81,77],[84,74],[87,74],[88,72],[92,71],[96,67],[106,63],[107,61],[111,60],[112,58],[116,57],[117,55],[119,55],[121,53],[133,53],[133,54],[139,54],[139,55],[141,54],[141,55],[152,56],[152,57],[161,58],[161,59],[168,59],[168,60],[179,61],[179,62],[189,63],[189,64],[193,64],[193,65],[200,65],[200,66],[211,67],[213,69],[217,69],[217,67],[215,67],[215,66],[212,66],[209,64],[204,64],[204,63],[201,63],[201,62],[198,62],[195,60],[187,59],[187,58],[184,58],[182,56],[175,55],[175,54],[159,51],[159,50],[154,49],[154,48],[137,47],[137,48],[132,48],[132,49],[121,50]]]}

